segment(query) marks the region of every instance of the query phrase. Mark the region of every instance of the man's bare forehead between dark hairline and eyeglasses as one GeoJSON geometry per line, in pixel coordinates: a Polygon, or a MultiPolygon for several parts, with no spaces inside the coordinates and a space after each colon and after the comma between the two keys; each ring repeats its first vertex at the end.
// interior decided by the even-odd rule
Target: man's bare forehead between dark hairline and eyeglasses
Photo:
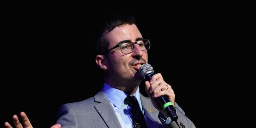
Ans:
{"type": "Polygon", "coordinates": [[[109,45],[114,46],[123,40],[135,42],[137,38],[142,38],[142,35],[135,24],[126,24],[115,27],[115,29],[106,34],[106,38],[110,42],[109,45]]]}

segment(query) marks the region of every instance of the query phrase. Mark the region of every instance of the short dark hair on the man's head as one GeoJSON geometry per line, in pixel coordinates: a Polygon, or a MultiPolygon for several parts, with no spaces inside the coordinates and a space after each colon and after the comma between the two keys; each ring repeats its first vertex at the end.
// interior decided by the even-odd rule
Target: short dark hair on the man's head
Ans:
{"type": "Polygon", "coordinates": [[[96,55],[102,55],[108,50],[109,42],[106,39],[106,33],[112,31],[117,26],[126,24],[136,24],[135,17],[126,13],[108,13],[102,17],[98,26],[97,33],[93,39],[96,55]]]}

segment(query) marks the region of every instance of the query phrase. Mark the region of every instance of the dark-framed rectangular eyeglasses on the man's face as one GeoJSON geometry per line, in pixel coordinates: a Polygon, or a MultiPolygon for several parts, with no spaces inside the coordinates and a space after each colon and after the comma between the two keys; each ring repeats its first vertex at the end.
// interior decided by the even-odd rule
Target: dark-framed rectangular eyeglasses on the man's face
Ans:
{"type": "Polygon", "coordinates": [[[131,53],[134,48],[134,44],[138,44],[139,48],[144,51],[150,49],[150,40],[149,39],[142,39],[138,40],[137,42],[122,42],[114,46],[113,48],[109,49],[108,51],[104,52],[103,54],[108,53],[109,51],[119,47],[122,51],[122,53],[131,53]]]}

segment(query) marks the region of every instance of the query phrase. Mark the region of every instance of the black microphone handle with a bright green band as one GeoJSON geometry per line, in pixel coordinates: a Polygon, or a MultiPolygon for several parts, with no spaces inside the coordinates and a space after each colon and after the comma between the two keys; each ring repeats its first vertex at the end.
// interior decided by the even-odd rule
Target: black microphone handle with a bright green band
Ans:
{"type": "MultiPolygon", "coordinates": [[[[148,73],[146,75],[147,77],[145,77],[146,81],[150,81],[151,76],[153,75],[154,73],[148,73]]],[[[163,110],[172,119],[172,121],[176,121],[178,119],[178,116],[176,114],[175,108],[172,105],[172,102],[170,102],[170,100],[165,96],[157,97],[157,100],[159,101],[161,106],[163,106],[163,110]]]]}

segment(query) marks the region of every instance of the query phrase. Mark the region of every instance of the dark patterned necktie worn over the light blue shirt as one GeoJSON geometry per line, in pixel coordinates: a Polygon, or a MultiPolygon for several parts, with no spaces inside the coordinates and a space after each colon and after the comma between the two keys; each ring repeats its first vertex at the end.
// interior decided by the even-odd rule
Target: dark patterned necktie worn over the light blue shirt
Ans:
{"type": "Polygon", "coordinates": [[[133,128],[148,128],[144,115],[139,108],[138,101],[134,96],[127,96],[124,100],[124,104],[131,106],[129,114],[132,115],[132,127],[133,128]]]}

